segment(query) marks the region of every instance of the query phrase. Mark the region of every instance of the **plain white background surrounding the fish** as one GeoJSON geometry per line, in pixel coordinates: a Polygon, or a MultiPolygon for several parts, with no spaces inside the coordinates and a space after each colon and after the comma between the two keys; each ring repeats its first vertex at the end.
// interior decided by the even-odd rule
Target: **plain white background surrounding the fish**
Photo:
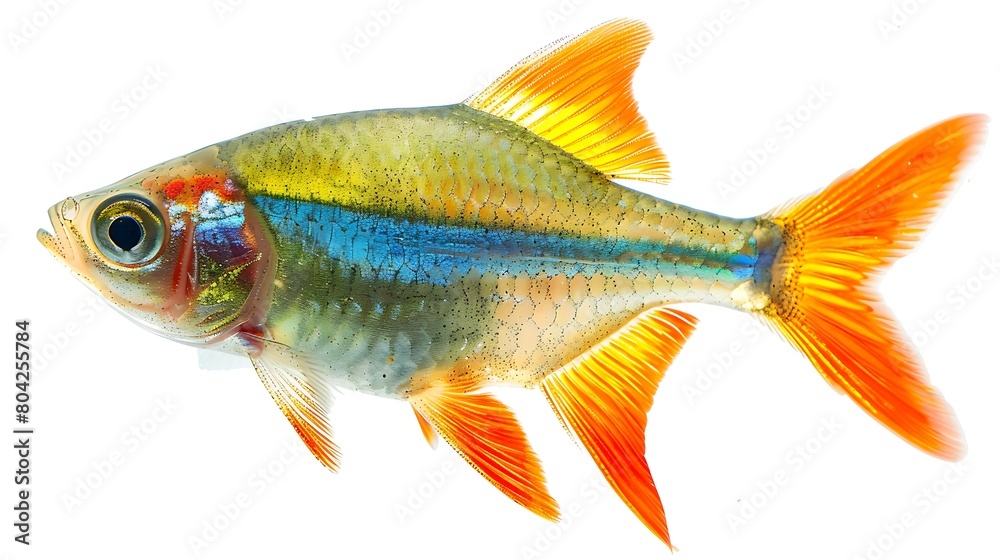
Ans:
{"type": "MultiPolygon", "coordinates": [[[[428,448],[409,407],[395,401],[339,398],[343,468],[327,472],[250,369],[200,369],[193,349],[103,306],[88,311],[90,292],[34,238],[48,227],[46,209],[66,196],[279,121],[459,101],[535,49],[620,16],[646,20],[657,37],[636,82],[673,165],[674,182],[656,192],[717,213],[752,215],[813,191],[943,118],[1000,116],[1000,14],[989,2],[400,0],[351,57],[343,45],[363,43],[357,28],[375,29],[372,12],[388,0],[244,0],[229,11],[213,2],[68,2],[48,18],[37,0],[0,8],[0,332],[13,337],[14,321],[30,319],[36,354],[50,357],[44,366],[36,359],[31,391],[33,544],[12,541],[11,437],[0,454],[0,557],[196,557],[191,538],[204,538],[206,521],[241,492],[250,505],[200,557],[668,556],[537,392],[501,395],[543,459],[552,493],[578,512],[566,527],[507,500],[450,449],[428,448]],[[724,9],[735,21],[710,36],[705,22],[724,9]],[[894,9],[901,26],[890,22],[894,9]],[[22,18],[44,25],[31,34],[22,18]],[[701,52],[691,47],[690,63],[679,65],[699,39],[701,52]],[[146,80],[155,88],[143,88],[147,69],[165,74],[146,80]],[[786,137],[780,119],[814,87],[832,96],[786,137]],[[123,94],[135,107],[125,111],[123,94]],[[84,131],[102,119],[111,132],[88,149],[84,131]],[[779,149],[722,196],[719,182],[767,138],[779,149]],[[53,164],[81,143],[79,164],[57,173],[53,164]],[[159,414],[162,422],[152,419],[158,401],[176,407],[159,414]],[[135,446],[122,439],[133,427],[151,432],[135,446]],[[286,445],[301,454],[284,465],[286,445]],[[95,465],[116,452],[124,462],[99,475],[95,465]],[[281,474],[262,488],[255,473],[268,466],[281,474]],[[452,474],[434,474],[443,469],[452,474]],[[88,477],[99,487],[68,508],[88,477]],[[443,483],[401,520],[397,506],[411,492],[431,494],[421,487],[428,477],[443,483]]],[[[996,557],[1000,282],[986,277],[982,260],[1000,250],[998,155],[994,136],[925,242],[881,288],[965,428],[963,476],[944,482],[948,464],[835,394],[777,336],[744,330],[753,325],[747,317],[690,306],[701,326],[661,386],[648,430],[676,558],[874,558],[870,541],[879,539],[883,558],[996,557]],[[977,291],[965,298],[958,285],[977,291]],[[707,390],[691,396],[699,374],[707,390]],[[830,418],[841,426],[836,435],[810,441],[830,418]],[[797,446],[815,452],[801,469],[788,457],[797,446]],[[787,483],[755,498],[779,470],[787,483]],[[925,508],[914,502],[925,488],[944,496],[925,508]],[[734,529],[728,516],[754,502],[766,503],[734,529]],[[915,525],[889,535],[885,524],[906,513],[915,525]]],[[[4,371],[0,410],[9,415],[0,418],[13,428],[13,375],[4,371]]]]}

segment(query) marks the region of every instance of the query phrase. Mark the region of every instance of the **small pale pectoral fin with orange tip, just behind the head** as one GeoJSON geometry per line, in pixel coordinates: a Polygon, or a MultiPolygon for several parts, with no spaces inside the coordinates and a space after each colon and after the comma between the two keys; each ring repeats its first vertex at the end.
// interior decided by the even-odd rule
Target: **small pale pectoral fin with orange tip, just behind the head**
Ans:
{"type": "Polygon", "coordinates": [[[333,402],[330,386],[314,372],[300,372],[265,357],[251,358],[251,361],[264,387],[302,442],[326,468],[337,472],[340,449],[333,442],[330,428],[329,410],[333,402]]]}

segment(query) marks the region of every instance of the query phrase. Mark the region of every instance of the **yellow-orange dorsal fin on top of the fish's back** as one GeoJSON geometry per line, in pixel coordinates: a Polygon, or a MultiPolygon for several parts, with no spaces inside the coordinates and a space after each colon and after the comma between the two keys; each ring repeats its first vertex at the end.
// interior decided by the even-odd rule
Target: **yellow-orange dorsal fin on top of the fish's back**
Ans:
{"type": "Polygon", "coordinates": [[[609,21],[536,52],[465,103],[608,177],[666,183],[670,164],[632,96],[632,76],[652,39],[641,21],[609,21]]]}

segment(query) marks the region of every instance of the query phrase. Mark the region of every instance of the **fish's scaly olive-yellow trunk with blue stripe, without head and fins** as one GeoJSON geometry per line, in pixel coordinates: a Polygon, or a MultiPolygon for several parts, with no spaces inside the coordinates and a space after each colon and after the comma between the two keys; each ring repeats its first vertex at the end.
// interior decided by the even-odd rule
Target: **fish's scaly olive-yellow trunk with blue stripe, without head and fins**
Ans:
{"type": "Polygon", "coordinates": [[[644,310],[767,297],[756,219],[619,186],[468,106],[299,121],[217,157],[273,235],[264,330],[343,387],[402,398],[463,364],[534,386],[644,310]]]}

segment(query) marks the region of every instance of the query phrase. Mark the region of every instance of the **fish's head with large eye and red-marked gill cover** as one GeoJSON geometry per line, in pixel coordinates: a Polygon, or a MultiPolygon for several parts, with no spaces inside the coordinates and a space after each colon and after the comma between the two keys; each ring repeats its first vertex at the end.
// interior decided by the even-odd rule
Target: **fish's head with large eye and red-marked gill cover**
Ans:
{"type": "Polygon", "coordinates": [[[49,219],[42,245],[157,334],[207,346],[262,321],[270,238],[215,146],[67,198],[49,219]]]}

